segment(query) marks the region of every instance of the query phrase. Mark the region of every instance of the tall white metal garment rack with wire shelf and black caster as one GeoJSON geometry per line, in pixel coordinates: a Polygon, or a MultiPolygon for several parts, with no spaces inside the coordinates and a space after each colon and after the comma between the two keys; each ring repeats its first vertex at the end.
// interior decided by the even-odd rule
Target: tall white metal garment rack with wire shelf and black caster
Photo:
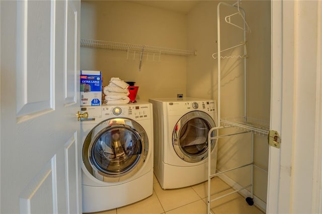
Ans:
{"type": "Polygon", "coordinates": [[[253,119],[253,118],[248,118],[247,117],[247,75],[246,75],[246,71],[247,71],[247,48],[246,48],[246,33],[250,33],[251,30],[246,22],[246,15],[245,15],[245,11],[239,7],[239,1],[237,0],[237,2],[233,5],[229,5],[227,3],[223,3],[220,2],[217,6],[217,41],[218,41],[218,52],[214,53],[212,55],[212,57],[214,59],[217,59],[218,61],[218,122],[217,122],[217,127],[213,127],[212,129],[209,130],[208,132],[208,148],[211,147],[211,142],[215,139],[219,139],[219,138],[224,138],[224,137],[229,137],[229,136],[233,136],[233,135],[239,135],[239,134],[244,134],[244,133],[252,133],[252,139],[251,139],[251,162],[248,164],[244,164],[241,166],[237,166],[219,173],[215,173],[215,174],[211,174],[211,151],[210,149],[208,150],[208,209],[207,209],[207,213],[211,213],[210,211],[210,205],[211,202],[214,200],[218,200],[222,197],[225,197],[227,195],[230,195],[232,193],[238,192],[240,190],[243,189],[247,189],[250,188],[250,192],[251,192],[251,196],[246,198],[246,201],[250,204],[253,205],[253,167],[254,167],[254,134],[260,135],[260,136],[268,136],[269,134],[269,123],[266,121],[262,121],[262,120],[258,120],[258,119],[253,119]],[[236,10],[236,13],[226,16],[225,17],[225,22],[227,24],[233,25],[234,27],[237,27],[241,30],[244,31],[244,39],[243,41],[240,42],[240,44],[232,46],[230,48],[221,50],[220,48],[220,7],[221,6],[225,6],[225,7],[229,7],[229,8],[234,8],[236,10]],[[240,19],[243,20],[244,25],[243,26],[238,26],[234,23],[231,22],[231,17],[233,16],[239,16],[240,19]],[[243,55],[237,55],[237,56],[221,56],[222,52],[225,52],[227,50],[231,50],[237,47],[243,47],[244,48],[244,54],[243,55]],[[231,118],[221,118],[220,116],[220,80],[221,80],[221,68],[220,68],[220,60],[221,59],[228,59],[228,58],[243,58],[244,59],[244,98],[245,98],[245,113],[244,116],[242,117],[231,117],[231,118]],[[231,134],[226,134],[226,135],[222,135],[222,136],[214,136],[214,132],[217,132],[217,130],[220,129],[226,129],[226,128],[237,128],[238,131],[231,133],[231,134]],[[224,174],[226,172],[230,172],[232,170],[235,169],[239,169],[239,168],[243,168],[246,166],[252,166],[251,168],[251,184],[235,189],[227,194],[224,194],[220,197],[216,197],[214,199],[211,200],[211,192],[210,192],[210,187],[211,187],[211,178],[224,174]]]}

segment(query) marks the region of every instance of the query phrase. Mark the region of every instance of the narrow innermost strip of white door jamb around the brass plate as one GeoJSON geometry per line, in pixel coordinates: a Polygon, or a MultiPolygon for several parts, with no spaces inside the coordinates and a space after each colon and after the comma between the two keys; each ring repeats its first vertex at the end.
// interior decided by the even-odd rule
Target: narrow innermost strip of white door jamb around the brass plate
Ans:
{"type": "MultiPolygon", "coordinates": [[[[270,129],[281,133],[282,1],[271,1],[271,121],[270,129]],[[273,98],[274,97],[274,98],[273,98]]],[[[284,142],[283,142],[284,143],[284,142]]],[[[278,213],[280,151],[269,147],[267,213],[278,213]]]]}

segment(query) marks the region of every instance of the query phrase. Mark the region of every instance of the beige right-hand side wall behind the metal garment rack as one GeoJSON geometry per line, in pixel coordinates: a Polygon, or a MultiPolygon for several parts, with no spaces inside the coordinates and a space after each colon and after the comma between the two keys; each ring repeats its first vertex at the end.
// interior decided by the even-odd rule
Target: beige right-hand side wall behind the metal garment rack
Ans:
{"type": "MultiPolygon", "coordinates": [[[[232,3],[231,1],[228,3],[232,3]]],[[[188,58],[187,95],[217,100],[217,4],[201,1],[188,14],[188,49],[196,49],[198,56],[188,58]]],[[[252,33],[247,34],[248,117],[270,119],[270,1],[243,1],[247,22],[252,33]]],[[[221,17],[235,13],[221,7],[221,17]]],[[[243,31],[221,22],[221,50],[243,41],[243,31]]],[[[239,48],[223,52],[222,56],[240,54],[239,48]]],[[[243,59],[221,60],[221,118],[244,116],[244,62],[243,59]]],[[[220,134],[226,132],[221,131],[220,134]]],[[[248,163],[251,158],[250,135],[221,139],[218,147],[217,168],[225,170],[248,163]]],[[[255,136],[254,160],[261,168],[268,168],[268,145],[266,137],[255,136]]],[[[266,201],[267,173],[254,169],[255,195],[266,201]]],[[[250,170],[238,169],[227,174],[239,184],[250,182],[250,170]]]]}

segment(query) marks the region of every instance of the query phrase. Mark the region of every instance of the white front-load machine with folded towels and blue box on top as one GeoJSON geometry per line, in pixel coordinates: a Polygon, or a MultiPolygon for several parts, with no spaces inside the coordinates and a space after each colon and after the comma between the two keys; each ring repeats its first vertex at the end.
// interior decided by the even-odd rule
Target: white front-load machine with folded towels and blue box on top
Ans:
{"type": "Polygon", "coordinates": [[[83,212],[108,210],[151,195],[151,103],[104,104],[101,118],[81,123],[83,212]]]}

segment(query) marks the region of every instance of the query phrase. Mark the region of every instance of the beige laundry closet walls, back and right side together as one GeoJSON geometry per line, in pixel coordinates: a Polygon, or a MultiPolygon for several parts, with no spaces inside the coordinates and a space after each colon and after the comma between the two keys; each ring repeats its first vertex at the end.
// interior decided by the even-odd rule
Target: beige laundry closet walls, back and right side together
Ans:
{"type": "MultiPolygon", "coordinates": [[[[184,2],[183,2],[184,3],[184,2]]],[[[231,1],[229,3],[232,3],[231,1]]],[[[138,98],[185,96],[217,100],[217,1],[200,1],[188,14],[137,5],[125,1],[82,1],[81,38],[197,50],[197,56],[162,55],[160,61],[144,59],[138,71],[138,55],[81,48],[81,69],[102,70],[104,85],[111,77],[135,81],[138,98]]],[[[270,1],[243,1],[252,33],[248,34],[248,116],[270,118],[270,1]]],[[[223,10],[222,15],[234,13],[223,10]]],[[[239,44],[240,30],[222,24],[221,49],[239,44]]],[[[226,55],[240,54],[240,49],[226,55]]],[[[244,115],[243,59],[221,61],[221,117],[244,115]]],[[[223,132],[222,132],[223,133],[223,132]]],[[[255,137],[255,162],[268,167],[267,140],[255,137]]],[[[248,162],[250,136],[221,140],[218,169],[248,162]]],[[[241,184],[250,181],[249,170],[229,176],[241,184]],[[244,178],[244,179],[240,179],[244,178]]],[[[267,173],[255,168],[256,196],[266,201],[267,173]]]]}

